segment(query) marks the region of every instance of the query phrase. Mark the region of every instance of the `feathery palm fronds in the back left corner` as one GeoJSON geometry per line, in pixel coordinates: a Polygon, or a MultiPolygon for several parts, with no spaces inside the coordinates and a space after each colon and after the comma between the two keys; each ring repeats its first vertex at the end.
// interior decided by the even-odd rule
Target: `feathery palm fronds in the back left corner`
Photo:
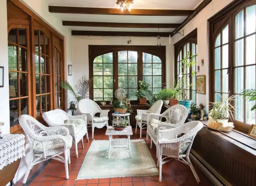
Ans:
{"type": "Polygon", "coordinates": [[[77,99],[77,102],[79,102],[81,99],[89,98],[91,83],[92,79],[88,79],[86,76],[82,76],[80,79],[78,79],[77,84],[75,85],[75,89],[73,89],[67,80],[60,81],[60,86],[61,88],[67,89],[69,92],[71,92],[77,99]]]}

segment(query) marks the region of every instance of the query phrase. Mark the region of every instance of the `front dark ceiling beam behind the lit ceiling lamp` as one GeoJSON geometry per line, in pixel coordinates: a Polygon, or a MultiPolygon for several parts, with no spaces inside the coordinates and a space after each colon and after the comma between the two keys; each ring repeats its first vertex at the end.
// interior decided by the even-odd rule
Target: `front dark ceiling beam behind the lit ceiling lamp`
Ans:
{"type": "Polygon", "coordinates": [[[65,14],[100,14],[100,15],[148,15],[148,16],[189,16],[193,10],[150,10],[150,9],[132,9],[121,11],[117,8],[88,8],[88,7],[61,7],[49,6],[51,13],[65,14]]]}

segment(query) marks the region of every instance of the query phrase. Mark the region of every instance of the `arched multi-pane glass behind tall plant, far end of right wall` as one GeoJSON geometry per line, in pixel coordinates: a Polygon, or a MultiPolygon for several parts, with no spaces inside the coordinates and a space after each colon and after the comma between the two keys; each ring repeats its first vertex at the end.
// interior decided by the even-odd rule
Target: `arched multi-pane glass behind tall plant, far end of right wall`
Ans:
{"type": "MultiPolygon", "coordinates": [[[[197,44],[195,43],[186,43],[183,47],[182,50],[179,51],[179,54],[177,56],[177,62],[176,62],[176,68],[177,68],[177,79],[176,83],[182,80],[183,75],[185,76],[185,84],[183,85],[180,83],[180,87],[184,86],[184,88],[187,90],[187,99],[191,99],[193,103],[196,103],[196,75],[197,75],[197,70],[196,70],[196,65],[193,64],[192,67],[187,67],[187,69],[183,69],[182,66],[182,60],[184,57],[187,57],[187,52],[190,51],[190,56],[196,55],[197,54],[197,44]],[[192,77],[192,72],[195,72],[195,75],[192,77]]],[[[189,59],[188,59],[189,60],[189,59]]],[[[192,59],[193,61],[197,61],[197,56],[192,59]]]]}

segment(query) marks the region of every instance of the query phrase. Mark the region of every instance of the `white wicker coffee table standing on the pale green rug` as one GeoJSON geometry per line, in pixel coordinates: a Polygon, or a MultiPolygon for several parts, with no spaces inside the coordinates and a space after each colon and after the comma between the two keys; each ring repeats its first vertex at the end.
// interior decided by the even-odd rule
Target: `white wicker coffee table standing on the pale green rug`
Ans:
{"type": "Polygon", "coordinates": [[[106,131],[106,135],[109,136],[108,159],[110,159],[110,155],[113,153],[113,151],[116,148],[125,149],[125,151],[127,151],[130,154],[130,158],[132,157],[130,136],[133,135],[133,131],[132,131],[131,126],[127,126],[126,129],[124,129],[123,131],[116,131],[112,126],[108,126],[108,129],[106,131]],[[115,139],[113,139],[112,138],[113,135],[127,135],[128,138],[115,138],[115,139]],[[111,151],[111,148],[113,148],[112,151],[111,151]],[[129,151],[126,148],[128,148],[129,151]]]}

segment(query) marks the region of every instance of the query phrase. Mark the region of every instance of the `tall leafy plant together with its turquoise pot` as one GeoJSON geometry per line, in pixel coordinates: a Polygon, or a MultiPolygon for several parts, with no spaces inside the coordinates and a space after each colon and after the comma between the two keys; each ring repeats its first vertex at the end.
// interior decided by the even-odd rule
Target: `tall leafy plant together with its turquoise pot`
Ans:
{"type": "MultiPolygon", "coordinates": [[[[197,55],[190,55],[190,51],[187,52],[186,57],[184,57],[182,60],[182,74],[179,75],[180,81],[178,84],[181,87],[181,98],[182,98],[179,100],[179,104],[184,105],[188,109],[192,103],[192,100],[188,99],[187,97],[187,89],[193,86],[193,84],[187,83],[187,74],[185,72],[187,71],[187,69],[190,69],[190,67],[197,64],[195,60],[196,56],[197,55]]],[[[194,76],[195,76],[195,71],[192,71],[190,73],[190,77],[194,77],[194,76]]]]}

